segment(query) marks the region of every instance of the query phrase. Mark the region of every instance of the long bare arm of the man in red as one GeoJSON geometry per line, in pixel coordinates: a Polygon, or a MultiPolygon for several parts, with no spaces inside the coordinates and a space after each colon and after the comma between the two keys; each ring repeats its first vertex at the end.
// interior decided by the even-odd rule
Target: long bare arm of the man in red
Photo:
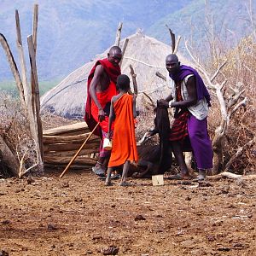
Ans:
{"type": "Polygon", "coordinates": [[[98,65],[96,67],[94,76],[90,82],[90,96],[92,97],[93,101],[96,103],[97,108],[99,109],[99,113],[98,113],[98,119],[101,122],[103,119],[105,119],[105,113],[103,111],[103,108],[100,104],[100,102],[97,99],[96,96],[96,88],[97,88],[97,84],[99,84],[102,73],[104,72],[104,68],[102,67],[102,65],[98,65]]]}

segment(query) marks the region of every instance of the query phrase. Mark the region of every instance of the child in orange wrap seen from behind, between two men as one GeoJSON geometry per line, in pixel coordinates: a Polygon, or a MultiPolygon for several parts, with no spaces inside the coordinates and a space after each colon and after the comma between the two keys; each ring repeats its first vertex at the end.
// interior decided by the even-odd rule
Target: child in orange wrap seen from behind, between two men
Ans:
{"type": "Polygon", "coordinates": [[[130,161],[137,161],[137,145],[135,137],[134,119],[136,113],[136,98],[128,94],[130,90],[130,79],[125,75],[119,75],[117,79],[119,95],[113,96],[111,100],[110,115],[108,122],[108,139],[110,138],[111,125],[114,120],[113,146],[110,160],[108,162],[108,172],[106,186],[112,185],[111,172],[115,166],[123,166],[120,186],[128,186],[126,182],[130,161]]]}

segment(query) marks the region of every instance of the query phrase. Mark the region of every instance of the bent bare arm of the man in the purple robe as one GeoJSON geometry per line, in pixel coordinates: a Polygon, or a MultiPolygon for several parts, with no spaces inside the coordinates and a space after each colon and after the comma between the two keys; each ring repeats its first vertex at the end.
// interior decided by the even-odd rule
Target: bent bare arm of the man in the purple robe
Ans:
{"type": "Polygon", "coordinates": [[[189,98],[182,102],[172,102],[171,108],[188,108],[195,105],[197,102],[195,76],[188,79],[186,87],[188,90],[189,98]]]}

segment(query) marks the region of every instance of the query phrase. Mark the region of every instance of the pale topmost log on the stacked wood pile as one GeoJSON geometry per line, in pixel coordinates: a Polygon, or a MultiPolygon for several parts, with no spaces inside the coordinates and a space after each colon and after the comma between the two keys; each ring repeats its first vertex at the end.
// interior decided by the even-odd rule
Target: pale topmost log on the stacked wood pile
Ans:
{"type": "Polygon", "coordinates": [[[66,135],[77,135],[77,134],[87,133],[87,132],[90,132],[90,130],[86,125],[86,123],[79,122],[72,125],[63,125],[60,127],[49,129],[44,131],[43,134],[48,136],[56,136],[56,135],[66,136],[66,135]]]}

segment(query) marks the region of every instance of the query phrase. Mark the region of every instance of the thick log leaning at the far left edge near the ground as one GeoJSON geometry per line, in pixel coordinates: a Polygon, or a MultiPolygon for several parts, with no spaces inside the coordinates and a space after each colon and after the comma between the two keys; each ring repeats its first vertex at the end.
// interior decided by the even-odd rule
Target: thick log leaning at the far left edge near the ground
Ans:
{"type": "Polygon", "coordinates": [[[10,172],[15,176],[19,177],[19,161],[15,158],[15,155],[9,149],[7,144],[4,142],[3,137],[0,135],[0,153],[3,157],[4,165],[9,167],[10,172]]]}

